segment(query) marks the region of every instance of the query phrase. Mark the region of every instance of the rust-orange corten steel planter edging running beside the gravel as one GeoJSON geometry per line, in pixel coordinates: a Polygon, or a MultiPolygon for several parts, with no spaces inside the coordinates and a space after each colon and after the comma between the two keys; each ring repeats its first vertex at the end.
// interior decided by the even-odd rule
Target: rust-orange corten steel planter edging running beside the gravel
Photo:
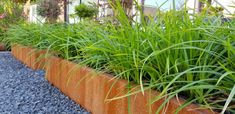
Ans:
{"type": "MultiPolygon", "coordinates": [[[[14,56],[17,55],[17,58],[22,57],[18,55],[19,52],[27,53],[27,49],[19,47],[19,45],[12,47],[12,53],[14,56]],[[18,51],[18,49],[21,51],[18,51]]],[[[38,58],[40,54],[45,53],[39,53],[33,58],[38,58]]],[[[26,59],[22,60],[27,61],[26,59]]],[[[32,63],[32,59],[30,60],[32,63]]],[[[136,84],[128,85],[127,80],[115,79],[109,74],[98,73],[91,68],[58,57],[49,56],[44,59],[44,62],[47,63],[47,80],[93,114],[155,114],[164,102],[164,99],[160,99],[152,104],[150,103],[159,95],[154,90],[146,90],[144,95],[139,92],[128,97],[110,100],[126,95],[128,91],[137,91],[140,87],[136,84]],[[132,88],[128,89],[129,86],[132,88]]],[[[24,63],[27,64],[27,62],[24,63]]],[[[174,114],[183,103],[183,99],[172,98],[160,112],[162,114],[174,114]]],[[[199,106],[190,104],[183,108],[179,114],[215,114],[215,112],[209,109],[199,109],[199,106]]]]}

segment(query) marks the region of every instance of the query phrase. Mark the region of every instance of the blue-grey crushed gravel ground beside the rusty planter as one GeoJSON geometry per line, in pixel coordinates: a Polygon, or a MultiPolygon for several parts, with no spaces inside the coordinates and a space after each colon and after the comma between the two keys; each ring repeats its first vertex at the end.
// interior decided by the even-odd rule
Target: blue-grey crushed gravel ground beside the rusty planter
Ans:
{"type": "Polygon", "coordinates": [[[0,52],[0,114],[89,114],[44,78],[0,52]]]}

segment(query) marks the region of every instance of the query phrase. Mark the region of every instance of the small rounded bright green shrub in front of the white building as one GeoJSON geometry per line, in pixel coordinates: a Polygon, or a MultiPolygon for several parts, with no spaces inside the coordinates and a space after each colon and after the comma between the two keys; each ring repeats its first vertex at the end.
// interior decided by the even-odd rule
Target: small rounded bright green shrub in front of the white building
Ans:
{"type": "Polygon", "coordinates": [[[75,7],[75,12],[80,18],[92,18],[98,13],[98,9],[91,5],[80,4],[75,7]]]}

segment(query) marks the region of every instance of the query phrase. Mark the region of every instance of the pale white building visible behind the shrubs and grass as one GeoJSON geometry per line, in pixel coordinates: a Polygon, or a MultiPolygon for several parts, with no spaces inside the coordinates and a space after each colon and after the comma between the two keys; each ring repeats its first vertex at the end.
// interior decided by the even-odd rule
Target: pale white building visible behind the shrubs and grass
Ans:
{"type": "MultiPolygon", "coordinates": [[[[79,22],[79,17],[75,16],[75,6],[81,3],[89,4],[95,3],[98,6],[99,13],[97,19],[101,19],[104,17],[112,16],[113,11],[109,6],[107,0],[67,0],[69,4],[67,5],[67,12],[69,17],[69,23],[77,23],[79,22]]],[[[235,0],[209,0],[211,5],[214,7],[223,7],[223,15],[226,17],[230,17],[231,14],[235,13],[235,0]]],[[[199,0],[137,0],[138,4],[142,5],[143,13],[146,16],[155,16],[157,10],[167,11],[169,9],[181,9],[185,6],[188,8],[189,13],[198,13],[203,8],[203,5],[199,2],[199,0]],[[185,3],[186,2],[186,3],[185,3]],[[175,7],[174,5],[175,4],[175,7]]],[[[134,19],[138,21],[140,19],[140,13],[136,10],[136,5],[132,0],[123,0],[123,3],[131,4],[131,8],[128,9],[128,15],[133,15],[134,19]]],[[[37,5],[30,5],[29,8],[29,21],[30,22],[44,22],[44,19],[37,15],[37,5]]],[[[63,14],[61,14],[60,19],[63,21],[63,14]]]]}

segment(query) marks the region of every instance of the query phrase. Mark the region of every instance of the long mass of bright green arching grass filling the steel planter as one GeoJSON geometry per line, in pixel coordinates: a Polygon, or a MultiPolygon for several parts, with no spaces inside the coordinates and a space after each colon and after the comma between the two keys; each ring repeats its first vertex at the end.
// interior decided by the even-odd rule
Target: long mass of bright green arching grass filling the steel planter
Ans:
{"type": "Polygon", "coordinates": [[[52,50],[138,83],[141,91],[161,91],[152,101],[167,96],[159,110],[180,95],[204,108],[235,113],[235,21],[202,15],[192,20],[184,10],[173,10],[157,22],[132,24],[120,5],[115,8],[118,26],[23,24],[12,27],[6,41],[52,50]]]}

